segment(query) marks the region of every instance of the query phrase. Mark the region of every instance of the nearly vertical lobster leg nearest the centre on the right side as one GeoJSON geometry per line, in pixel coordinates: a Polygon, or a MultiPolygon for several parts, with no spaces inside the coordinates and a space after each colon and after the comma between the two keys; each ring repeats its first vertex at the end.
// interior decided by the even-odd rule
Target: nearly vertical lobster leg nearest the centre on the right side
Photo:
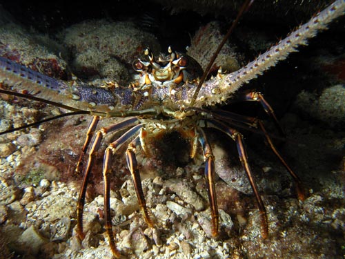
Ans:
{"type": "Polygon", "coordinates": [[[213,156],[212,148],[208,143],[206,135],[201,128],[197,128],[199,133],[199,142],[204,151],[205,160],[205,178],[206,188],[208,191],[208,200],[211,209],[211,222],[212,222],[212,236],[217,236],[219,227],[219,213],[217,205],[217,196],[215,192],[215,157],[213,156]]]}

